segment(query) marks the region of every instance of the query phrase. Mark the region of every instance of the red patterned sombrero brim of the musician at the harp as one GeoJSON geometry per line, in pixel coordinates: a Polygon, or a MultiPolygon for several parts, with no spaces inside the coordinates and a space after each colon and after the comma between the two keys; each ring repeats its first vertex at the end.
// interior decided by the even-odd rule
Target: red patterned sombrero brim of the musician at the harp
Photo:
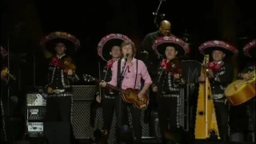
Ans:
{"type": "Polygon", "coordinates": [[[199,51],[201,54],[205,54],[204,51],[210,47],[221,47],[225,50],[230,50],[234,54],[238,54],[238,50],[234,46],[230,45],[230,43],[218,40],[204,42],[201,46],[199,46],[199,51]]]}

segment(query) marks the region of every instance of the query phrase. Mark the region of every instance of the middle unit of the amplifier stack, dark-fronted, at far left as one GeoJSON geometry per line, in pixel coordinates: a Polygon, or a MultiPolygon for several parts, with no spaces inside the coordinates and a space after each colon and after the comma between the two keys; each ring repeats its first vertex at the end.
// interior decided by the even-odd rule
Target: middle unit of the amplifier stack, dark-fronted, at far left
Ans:
{"type": "Polygon", "coordinates": [[[27,109],[27,120],[38,121],[43,120],[46,116],[46,106],[33,107],[27,109]]]}

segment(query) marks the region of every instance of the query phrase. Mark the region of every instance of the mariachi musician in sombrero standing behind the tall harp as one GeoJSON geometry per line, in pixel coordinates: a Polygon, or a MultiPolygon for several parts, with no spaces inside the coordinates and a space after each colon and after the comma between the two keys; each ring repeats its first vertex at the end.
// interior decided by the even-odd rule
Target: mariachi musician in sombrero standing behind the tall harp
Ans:
{"type": "MultiPolygon", "coordinates": [[[[227,56],[237,54],[238,50],[227,42],[218,40],[204,42],[199,46],[202,54],[210,54],[212,61],[209,63],[210,87],[214,99],[214,110],[216,113],[218,131],[224,142],[229,141],[229,106],[226,103],[224,90],[234,78],[234,67],[224,62],[227,56]]],[[[200,76],[198,82],[205,82],[205,77],[200,76]]]]}

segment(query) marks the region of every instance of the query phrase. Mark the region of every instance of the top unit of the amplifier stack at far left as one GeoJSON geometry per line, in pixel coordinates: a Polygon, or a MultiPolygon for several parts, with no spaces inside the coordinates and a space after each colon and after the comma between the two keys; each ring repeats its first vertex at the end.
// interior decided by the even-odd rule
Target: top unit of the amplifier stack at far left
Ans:
{"type": "Polygon", "coordinates": [[[26,94],[26,106],[46,106],[46,98],[42,94],[26,94]]]}

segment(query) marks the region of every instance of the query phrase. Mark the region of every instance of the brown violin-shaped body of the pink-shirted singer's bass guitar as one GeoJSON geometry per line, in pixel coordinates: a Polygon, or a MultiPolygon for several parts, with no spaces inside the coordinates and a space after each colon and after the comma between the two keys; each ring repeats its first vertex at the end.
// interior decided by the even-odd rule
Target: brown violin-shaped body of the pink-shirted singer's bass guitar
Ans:
{"type": "Polygon", "coordinates": [[[122,100],[124,102],[132,103],[138,109],[145,109],[149,104],[148,94],[143,94],[142,100],[138,100],[139,91],[133,89],[126,89],[122,91],[122,100]]]}

